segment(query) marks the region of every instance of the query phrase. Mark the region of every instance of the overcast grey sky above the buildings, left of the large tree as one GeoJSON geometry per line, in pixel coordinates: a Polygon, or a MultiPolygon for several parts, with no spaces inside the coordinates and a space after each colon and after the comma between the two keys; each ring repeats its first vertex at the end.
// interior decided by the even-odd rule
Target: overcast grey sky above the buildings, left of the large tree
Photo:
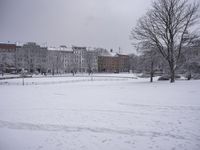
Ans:
{"type": "Polygon", "coordinates": [[[0,41],[134,52],[129,39],[151,0],[0,0],[0,41]]]}

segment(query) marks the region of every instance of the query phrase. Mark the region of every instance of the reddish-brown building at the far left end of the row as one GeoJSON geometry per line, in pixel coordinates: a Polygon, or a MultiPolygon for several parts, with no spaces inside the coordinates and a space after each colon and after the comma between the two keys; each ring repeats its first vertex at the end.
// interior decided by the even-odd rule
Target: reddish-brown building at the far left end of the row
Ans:
{"type": "Polygon", "coordinates": [[[16,65],[16,45],[0,43],[0,72],[11,72],[16,65]]]}

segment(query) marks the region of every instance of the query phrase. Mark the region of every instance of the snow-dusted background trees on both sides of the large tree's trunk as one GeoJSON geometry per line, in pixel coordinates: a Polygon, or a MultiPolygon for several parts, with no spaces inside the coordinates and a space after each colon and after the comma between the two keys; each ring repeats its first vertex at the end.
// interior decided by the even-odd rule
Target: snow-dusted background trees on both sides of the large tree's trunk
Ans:
{"type": "MultiPolygon", "coordinates": [[[[180,59],[177,62],[176,74],[185,77],[190,75],[200,79],[200,40],[198,45],[183,48],[180,59]]],[[[143,73],[143,76],[150,77],[161,75],[169,78],[170,68],[168,62],[157,51],[145,51],[140,55],[130,55],[130,69],[135,73],[143,73]]],[[[178,75],[176,75],[178,77],[178,75]]]]}

